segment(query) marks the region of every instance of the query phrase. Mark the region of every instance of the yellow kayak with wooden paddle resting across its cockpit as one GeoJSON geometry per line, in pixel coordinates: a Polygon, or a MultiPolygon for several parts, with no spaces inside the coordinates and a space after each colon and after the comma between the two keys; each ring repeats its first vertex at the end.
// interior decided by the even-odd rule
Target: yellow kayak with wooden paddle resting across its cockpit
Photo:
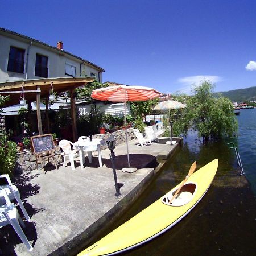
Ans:
{"type": "Polygon", "coordinates": [[[170,192],[78,255],[115,255],[159,236],[199,203],[217,168],[218,159],[214,159],[195,173],[190,170],[186,179],[170,192]]]}

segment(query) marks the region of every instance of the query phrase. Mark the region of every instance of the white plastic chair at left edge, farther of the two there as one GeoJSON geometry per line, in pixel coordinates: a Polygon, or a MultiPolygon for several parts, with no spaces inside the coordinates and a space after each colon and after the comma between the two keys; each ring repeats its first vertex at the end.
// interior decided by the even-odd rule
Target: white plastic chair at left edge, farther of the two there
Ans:
{"type": "MultiPolygon", "coordinates": [[[[0,188],[5,190],[10,201],[13,201],[14,199],[16,199],[18,203],[17,205],[19,205],[27,221],[30,222],[30,217],[28,216],[27,211],[24,208],[24,205],[22,203],[22,200],[20,199],[19,189],[11,183],[11,180],[8,174],[1,174],[0,179],[2,178],[5,178],[7,180],[8,185],[1,185],[0,188]]],[[[0,203],[2,203],[1,201],[2,201],[2,198],[0,198],[0,203]]]]}

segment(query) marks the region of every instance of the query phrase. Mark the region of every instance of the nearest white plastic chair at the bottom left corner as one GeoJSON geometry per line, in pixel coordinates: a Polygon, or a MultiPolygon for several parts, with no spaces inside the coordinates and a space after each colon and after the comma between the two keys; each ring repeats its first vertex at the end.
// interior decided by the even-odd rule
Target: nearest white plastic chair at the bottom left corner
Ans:
{"type": "Polygon", "coordinates": [[[29,251],[32,251],[33,247],[30,245],[30,242],[28,242],[26,235],[20,227],[21,225],[24,228],[25,225],[22,221],[22,218],[20,218],[19,216],[17,208],[9,200],[9,197],[6,194],[5,189],[0,189],[0,196],[4,197],[5,199],[5,204],[0,205],[0,228],[8,224],[11,224],[15,232],[18,234],[19,238],[26,245],[27,249],[29,251]]]}

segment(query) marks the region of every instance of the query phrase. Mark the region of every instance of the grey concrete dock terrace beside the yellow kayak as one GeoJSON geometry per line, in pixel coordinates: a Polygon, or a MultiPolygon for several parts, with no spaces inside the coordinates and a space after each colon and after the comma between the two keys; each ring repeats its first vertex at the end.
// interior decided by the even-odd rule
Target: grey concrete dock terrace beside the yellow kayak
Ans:
{"type": "Polygon", "coordinates": [[[27,222],[19,211],[26,225],[23,230],[34,250],[29,253],[8,225],[0,233],[2,255],[76,255],[85,248],[133,204],[181,143],[141,147],[136,142],[129,142],[130,165],[138,168],[136,172],[121,171],[127,167],[126,143],[114,150],[118,183],[124,184],[119,197],[115,196],[108,149],[101,151],[102,168],[94,152],[92,163],[86,158],[83,170],[77,162],[75,170],[68,163],[58,170],[49,166],[46,174],[34,170],[15,177],[14,184],[31,217],[27,222]]]}

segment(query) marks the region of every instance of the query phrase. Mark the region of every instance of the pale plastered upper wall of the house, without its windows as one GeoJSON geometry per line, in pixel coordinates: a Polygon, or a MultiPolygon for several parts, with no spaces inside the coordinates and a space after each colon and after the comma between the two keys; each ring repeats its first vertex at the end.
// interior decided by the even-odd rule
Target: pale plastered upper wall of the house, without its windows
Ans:
{"type": "MultiPolygon", "coordinates": [[[[0,82],[15,81],[20,79],[26,79],[26,65],[27,79],[39,79],[42,77],[35,76],[35,61],[36,53],[48,57],[48,77],[69,77],[65,75],[65,64],[68,62],[76,67],[76,76],[80,76],[80,64],[82,60],[79,60],[71,55],[59,52],[53,48],[44,46],[37,42],[32,42],[30,46],[30,40],[24,39],[20,36],[10,35],[6,36],[1,34],[0,31],[0,82]],[[16,73],[7,71],[10,46],[18,47],[25,50],[24,55],[24,73],[16,73]],[[29,51],[28,51],[29,49],[29,51]],[[27,53],[28,61],[27,61],[27,53]]],[[[93,68],[91,65],[83,64],[85,66],[86,75],[90,76],[90,72],[96,74],[98,79],[98,69],[93,68]]],[[[82,65],[82,66],[83,66],[82,65]]],[[[100,74],[100,82],[102,81],[100,74]]]]}

